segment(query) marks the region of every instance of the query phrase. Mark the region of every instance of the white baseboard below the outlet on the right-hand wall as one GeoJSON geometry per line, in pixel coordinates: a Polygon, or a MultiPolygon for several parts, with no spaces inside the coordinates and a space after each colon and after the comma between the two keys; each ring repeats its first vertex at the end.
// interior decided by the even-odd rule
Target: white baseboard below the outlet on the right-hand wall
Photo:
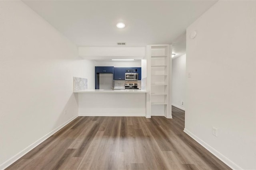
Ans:
{"type": "Polygon", "coordinates": [[[207,143],[205,143],[204,141],[202,141],[200,138],[198,138],[196,135],[194,135],[193,133],[191,133],[190,131],[188,131],[187,129],[184,129],[184,132],[186,134],[188,134],[190,137],[192,137],[197,143],[199,143],[200,145],[202,145],[205,149],[207,149],[209,152],[211,152],[212,154],[214,154],[214,156],[216,156],[217,158],[219,158],[222,162],[224,162],[227,166],[229,166],[230,168],[232,168],[233,170],[242,170],[243,168],[241,168],[240,166],[238,166],[237,164],[235,164],[234,162],[232,162],[230,159],[228,159],[226,156],[224,156],[223,154],[221,154],[220,152],[218,152],[217,150],[215,150],[213,147],[211,147],[210,145],[208,145],[207,143]]]}

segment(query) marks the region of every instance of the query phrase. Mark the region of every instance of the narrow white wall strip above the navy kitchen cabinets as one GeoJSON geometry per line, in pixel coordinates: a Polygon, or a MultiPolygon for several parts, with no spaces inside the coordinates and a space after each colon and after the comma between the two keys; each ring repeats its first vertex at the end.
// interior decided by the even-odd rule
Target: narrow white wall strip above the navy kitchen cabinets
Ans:
{"type": "Polygon", "coordinates": [[[114,66],[114,67],[141,67],[141,60],[134,61],[111,61],[95,60],[96,66],[114,66]]]}

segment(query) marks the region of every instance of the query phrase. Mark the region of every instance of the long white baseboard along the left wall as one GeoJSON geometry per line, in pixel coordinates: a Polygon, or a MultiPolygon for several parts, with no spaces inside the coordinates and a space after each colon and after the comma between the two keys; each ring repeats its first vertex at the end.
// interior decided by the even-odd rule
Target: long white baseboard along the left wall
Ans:
{"type": "Polygon", "coordinates": [[[69,119],[68,121],[66,121],[65,123],[63,123],[62,125],[56,127],[54,130],[50,131],[49,133],[47,133],[46,135],[44,135],[43,137],[41,137],[40,139],[38,139],[36,142],[32,143],[31,145],[29,145],[28,147],[26,147],[25,149],[23,149],[22,151],[20,151],[19,153],[17,153],[16,155],[12,156],[12,158],[8,159],[6,162],[2,163],[0,165],[0,170],[4,170],[5,168],[7,168],[8,166],[10,166],[11,164],[13,164],[14,162],[16,162],[18,159],[20,159],[22,156],[24,156],[26,153],[28,153],[30,150],[34,149],[35,147],[37,147],[40,143],[42,143],[43,141],[45,141],[46,139],[48,139],[51,135],[53,135],[54,133],[56,133],[57,131],[59,131],[62,127],[66,126],[68,123],[70,123],[72,120],[76,119],[76,117],[78,117],[77,115],[72,117],[71,119],[69,119]]]}

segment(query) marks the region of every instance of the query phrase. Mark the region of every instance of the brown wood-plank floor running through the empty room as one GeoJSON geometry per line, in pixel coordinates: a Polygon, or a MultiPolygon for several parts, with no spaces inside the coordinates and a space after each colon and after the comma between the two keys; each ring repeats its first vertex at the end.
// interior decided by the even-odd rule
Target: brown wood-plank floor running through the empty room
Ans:
{"type": "Polygon", "coordinates": [[[78,117],[7,170],[230,169],[183,132],[183,111],[172,116],[78,117]]]}

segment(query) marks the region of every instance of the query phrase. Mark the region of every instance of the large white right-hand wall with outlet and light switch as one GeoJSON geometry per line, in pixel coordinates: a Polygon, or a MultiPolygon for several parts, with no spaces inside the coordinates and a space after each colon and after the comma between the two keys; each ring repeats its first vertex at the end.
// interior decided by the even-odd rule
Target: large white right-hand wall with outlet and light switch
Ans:
{"type": "Polygon", "coordinates": [[[235,169],[256,169],[255,9],[218,1],[187,29],[185,131],[235,169]]]}

